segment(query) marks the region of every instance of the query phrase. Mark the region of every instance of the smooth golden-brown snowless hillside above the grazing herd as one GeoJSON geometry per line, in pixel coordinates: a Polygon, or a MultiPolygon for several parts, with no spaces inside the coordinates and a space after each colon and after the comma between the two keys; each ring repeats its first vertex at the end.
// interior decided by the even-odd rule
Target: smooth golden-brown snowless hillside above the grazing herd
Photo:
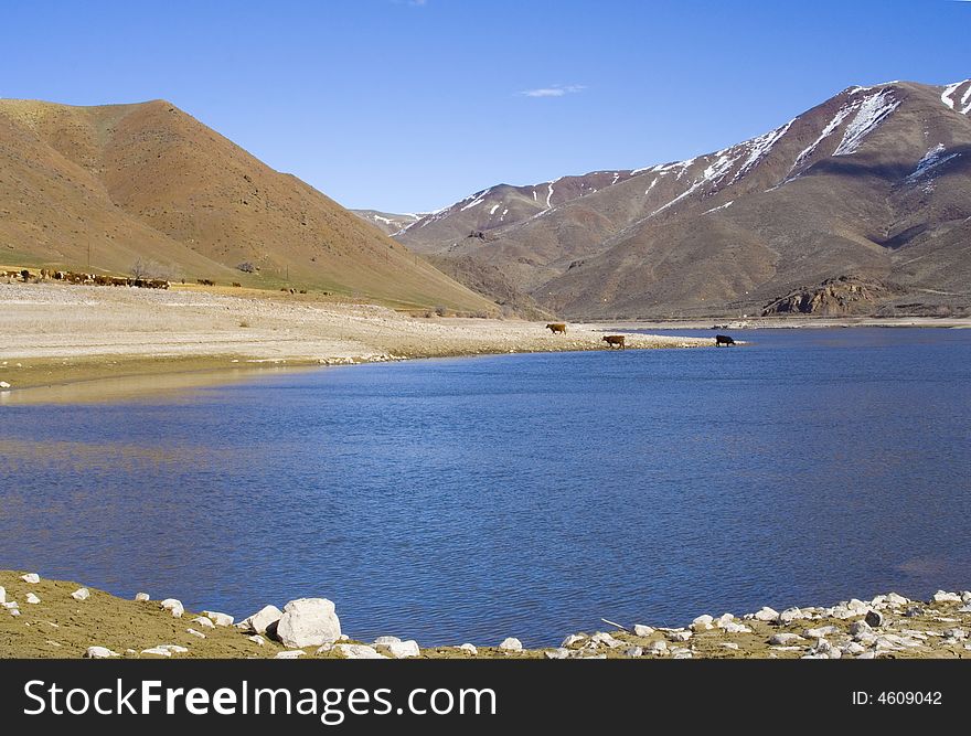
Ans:
{"type": "Polygon", "coordinates": [[[289,284],[398,306],[494,305],[163,100],[0,100],[0,262],[289,284]],[[258,273],[236,269],[243,263],[258,273]]]}

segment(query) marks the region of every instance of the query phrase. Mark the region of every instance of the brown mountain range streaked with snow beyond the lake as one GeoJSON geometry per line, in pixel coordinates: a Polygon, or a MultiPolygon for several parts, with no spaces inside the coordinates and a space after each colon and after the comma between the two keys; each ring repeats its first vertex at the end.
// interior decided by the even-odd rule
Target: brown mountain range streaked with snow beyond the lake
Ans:
{"type": "Polygon", "coordinates": [[[754,313],[843,276],[890,285],[854,309],[968,309],[969,113],[971,79],[850,87],[721,151],[492,186],[395,237],[566,316],[754,313]]]}

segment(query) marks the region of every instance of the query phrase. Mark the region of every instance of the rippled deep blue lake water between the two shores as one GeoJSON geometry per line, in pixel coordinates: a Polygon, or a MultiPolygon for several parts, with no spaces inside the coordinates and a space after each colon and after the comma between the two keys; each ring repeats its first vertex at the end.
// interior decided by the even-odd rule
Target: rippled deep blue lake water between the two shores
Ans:
{"type": "Polygon", "coordinates": [[[0,567],[423,646],[971,587],[971,330],[732,334],[2,407],[0,567]]]}

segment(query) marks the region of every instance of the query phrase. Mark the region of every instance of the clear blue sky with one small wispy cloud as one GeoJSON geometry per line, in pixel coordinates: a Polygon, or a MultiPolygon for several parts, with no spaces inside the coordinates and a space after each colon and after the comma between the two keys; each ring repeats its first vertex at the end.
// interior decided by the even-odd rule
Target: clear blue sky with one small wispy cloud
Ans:
{"type": "Polygon", "coordinates": [[[164,98],[345,206],[415,212],[962,79],[969,30],[960,0],[2,0],[0,96],[164,98]]]}

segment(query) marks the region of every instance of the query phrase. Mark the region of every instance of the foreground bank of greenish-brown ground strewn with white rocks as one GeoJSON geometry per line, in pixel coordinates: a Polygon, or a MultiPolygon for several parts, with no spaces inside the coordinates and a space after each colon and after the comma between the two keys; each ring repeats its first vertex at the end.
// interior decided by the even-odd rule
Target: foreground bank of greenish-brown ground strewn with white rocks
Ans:
{"type": "Polygon", "coordinates": [[[607,623],[559,647],[501,642],[422,647],[412,639],[355,640],[334,604],[300,598],[236,621],[186,611],[174,598],[126,600],[35,573],[0,572],[0,657],[92,659],[971,659],[971,591],[928,600],[896,593],[834,606],[715,617],[679,627],[607,623]]]}

